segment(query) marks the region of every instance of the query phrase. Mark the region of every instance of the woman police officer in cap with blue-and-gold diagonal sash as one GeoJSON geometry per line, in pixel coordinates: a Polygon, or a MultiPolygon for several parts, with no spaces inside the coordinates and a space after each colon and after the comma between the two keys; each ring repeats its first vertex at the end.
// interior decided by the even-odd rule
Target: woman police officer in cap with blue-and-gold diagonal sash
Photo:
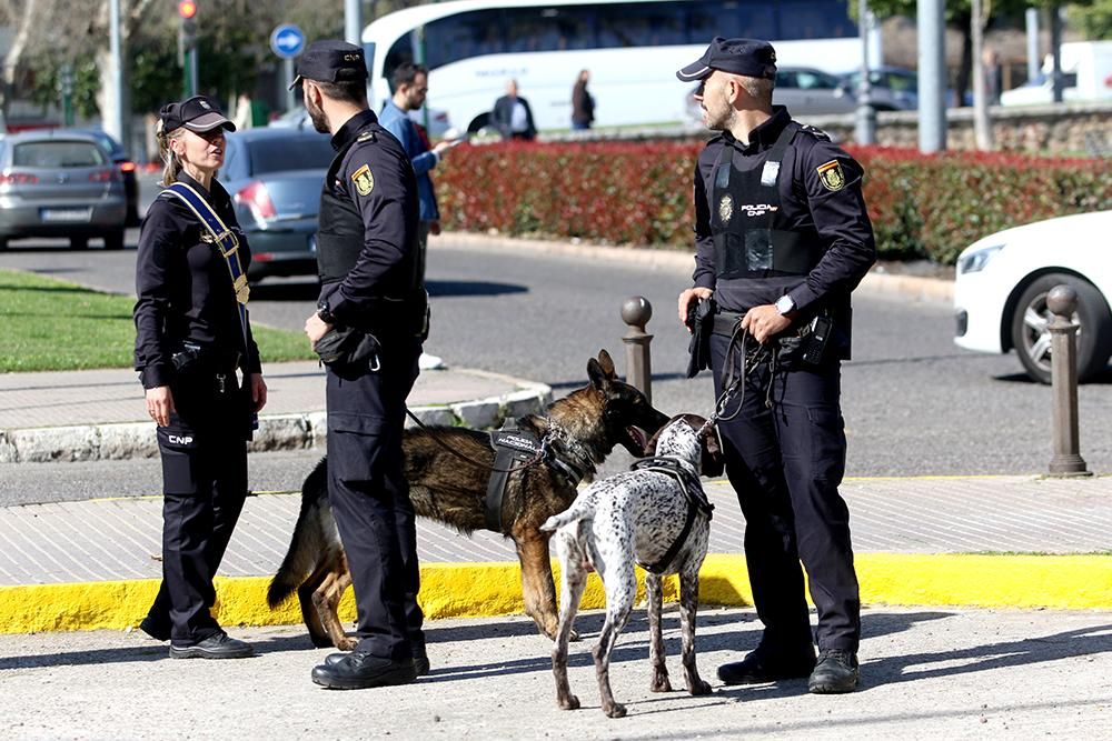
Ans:
{"type": "Polygon", "coordinates": [[[166,187],[147,211],[136,258],[136,370],[162,458],[162,583],[140,628],[176,659],[249,657],[209,613],[247,497],[247,444],[267,399],[248,321],[247,241],[216,181],[225,130],[201,96],[161,110],[166,187]],[[236,371],[242,373],[242,387],[236,371]]]}

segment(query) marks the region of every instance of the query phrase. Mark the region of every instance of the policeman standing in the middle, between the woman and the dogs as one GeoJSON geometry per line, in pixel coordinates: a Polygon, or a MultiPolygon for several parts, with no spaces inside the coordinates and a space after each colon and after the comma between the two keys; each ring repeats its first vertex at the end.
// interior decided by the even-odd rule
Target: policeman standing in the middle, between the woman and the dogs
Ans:
{"type": "Polygon", "coordinates": [[[359,643],[312,670],[335,689],[405,684],[428,671],[414,510],[401,470],[406,397],[427,332],[417,182],[367,107],[359,47],[317,41],[295,84],[336,159],[320,194],[320,301],[305,322],[327,366],[328,498],[355,587],[359,643]]]}

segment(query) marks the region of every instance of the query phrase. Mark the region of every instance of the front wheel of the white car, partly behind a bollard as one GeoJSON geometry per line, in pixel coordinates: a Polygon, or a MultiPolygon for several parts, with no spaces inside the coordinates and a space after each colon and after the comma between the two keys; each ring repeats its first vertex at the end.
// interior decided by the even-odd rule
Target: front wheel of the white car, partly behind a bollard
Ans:
{"type": "Polygon", "coordinates": [[[1078,330],[1078,381],[1084,382],[1104,370],[1112,354],[1112,316],[1100,291],[1076,276],[1042,276],[1023,291],[1012,314],[1012,346],[1027,375],[1041,383],[1051,381],[1048,324],[1053,314],[1046,308],[1046,296],[1062,283],[1078,292],[1078,309],[1073,314],[1073,321],[1081,326],[1078,330]]]}

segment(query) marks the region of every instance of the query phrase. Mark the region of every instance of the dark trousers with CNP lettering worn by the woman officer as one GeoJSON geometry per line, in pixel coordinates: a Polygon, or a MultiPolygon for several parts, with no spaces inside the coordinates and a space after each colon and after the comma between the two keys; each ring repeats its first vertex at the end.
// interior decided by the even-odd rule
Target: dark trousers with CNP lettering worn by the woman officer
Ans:
{"type": "MultiPolygon", "coordinates": [[[[235,375],[232,375],[235,378],[235,375]]],[[[191,404],[187,399],[177,403],[191,404]]],[[[162,458],[162,583],[150,608],[171,642],[220,630],[209,610],[216,575],[247,498],[247,443],[240,425],[193,425],[179,414],[158,428],[162,458]]]]}

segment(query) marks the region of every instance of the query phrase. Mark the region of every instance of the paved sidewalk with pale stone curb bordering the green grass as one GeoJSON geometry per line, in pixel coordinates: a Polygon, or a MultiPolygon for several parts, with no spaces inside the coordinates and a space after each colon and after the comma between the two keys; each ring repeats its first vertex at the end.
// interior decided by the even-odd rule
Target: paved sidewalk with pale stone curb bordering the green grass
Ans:
{"type": "MultiPolygon", "coordinates": [[[[266,374],[269,394],[251,449],[322,447],[324,369],[312,361],[268,363],[266,374]]],[[[421,371],[409,408],[427,424],[488,428],[550,400],[544,383],[448,368],[421,371]]],[[[0,463],[157,454],[133,371],[0,373],[0,463]]]]}

